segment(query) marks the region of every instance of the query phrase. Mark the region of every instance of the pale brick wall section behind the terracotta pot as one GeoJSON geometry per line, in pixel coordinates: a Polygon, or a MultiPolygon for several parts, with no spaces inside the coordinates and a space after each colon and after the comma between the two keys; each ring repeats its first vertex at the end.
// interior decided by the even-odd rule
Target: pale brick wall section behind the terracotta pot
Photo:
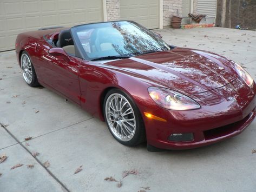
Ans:
{"type": "Polygon", "coordinates": [[[182,14],[182,0],[163,0],[163,27],[170,26],[170,18],[182,14]]]}

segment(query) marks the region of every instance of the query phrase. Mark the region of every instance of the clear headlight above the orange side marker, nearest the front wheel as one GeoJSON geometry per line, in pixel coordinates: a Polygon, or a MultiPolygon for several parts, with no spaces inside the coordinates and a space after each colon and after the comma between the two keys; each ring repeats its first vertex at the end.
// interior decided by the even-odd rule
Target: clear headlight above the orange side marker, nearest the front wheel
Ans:
{"type": "Polygon", "coordinates": [[[200,105],[192,98],[170,89],[165,88],[148,88],[150,97],[160,107],[172,110],[190,110],[198,109],[200,105]]]}

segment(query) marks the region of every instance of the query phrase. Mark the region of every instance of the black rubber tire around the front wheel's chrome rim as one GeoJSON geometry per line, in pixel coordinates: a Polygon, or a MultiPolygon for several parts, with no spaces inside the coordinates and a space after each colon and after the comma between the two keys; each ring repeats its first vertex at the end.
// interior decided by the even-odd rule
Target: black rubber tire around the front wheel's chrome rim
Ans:
{"type": "Polygon", "coordinates": [[[111,89],[106,97],[104,98],[104,107],[103,107],[103,111],[104,111],[104,118],[105,121],[107,123],[108,129],[110,131],[110,133],[113,135],[113,137],[120,143],[122,143],[123,145],[127,145],[127,146],[135,146],[137,144],[140,144],[142,142],[144,142],[145,139],[145,128],[144,128],[144,124],[143,124],[143,120],[140,114],[139,109],[137,108],[137,105],[134,103],[134,101],[132,100],[132,98],[130,98],[130,96],[128,94],[126,94],[126,92],[120,90],[120,89],[111,89]],[[124,97],[126,97],[126,99],[129,101],[129,103],[131,104],[133,111],[134,111],[134,115],[135,115],[135,122],[136,122],[136,130],[135,130],[135,134],[133,136],[133,138],[129,141],[121,141],[119,138],[117,138],[111,131],[108,122],[107,122],[107,115],[106,115],[106,101],[108,99],[108,97],[111,94],[120,94],[124,97]]]}

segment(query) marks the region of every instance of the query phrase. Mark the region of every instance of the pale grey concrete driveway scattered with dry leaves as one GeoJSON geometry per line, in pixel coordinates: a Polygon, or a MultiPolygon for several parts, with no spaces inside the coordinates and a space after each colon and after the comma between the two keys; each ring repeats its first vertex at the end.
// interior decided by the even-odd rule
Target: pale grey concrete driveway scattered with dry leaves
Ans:
{"type": "MultiPolygon", "coordinates": [[[[155,31],[169,44],[225,55],[244,65],[255,79],[256,31],[155,31]]],[[[119,144],[104,122],[54,92],[30,88],[15,51],[0,53],[0,78],[0,155],[8,156],[0,163],[2,192],[256,189],[255,121],[241,135],[218,144],[149,153],[146,144],[133,148],[119,144]],[[31,140],[25,141],[28,137],[31,140]],[[35,153],[39,155],[34,157],[35,153]],[[11,169],[16,164],[23,165],[11,169]],[[83,170],[74,174],[81,165],[83,170]],[[131,174],[122,179],[123,171],[131,174]],[[122,186],[104,180],[110,176],[122,179],[122,186]]]]}

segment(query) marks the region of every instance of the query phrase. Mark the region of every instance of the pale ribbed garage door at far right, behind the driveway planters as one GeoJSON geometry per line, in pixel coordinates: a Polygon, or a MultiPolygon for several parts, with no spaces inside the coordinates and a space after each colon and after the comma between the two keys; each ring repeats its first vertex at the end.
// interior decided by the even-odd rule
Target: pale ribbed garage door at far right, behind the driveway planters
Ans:
{"type": "Polygon", "coordinates": [[[217,0],[198,0],[198,14],[205,14],[206,23],[215,23],[217,0]]]}

